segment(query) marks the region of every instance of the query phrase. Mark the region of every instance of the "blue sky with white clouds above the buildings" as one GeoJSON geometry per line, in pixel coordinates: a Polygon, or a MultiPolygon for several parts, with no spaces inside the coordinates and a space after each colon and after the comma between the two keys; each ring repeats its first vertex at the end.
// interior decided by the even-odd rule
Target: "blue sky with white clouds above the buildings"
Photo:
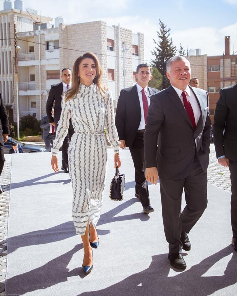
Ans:
{"type": "MultiPolygon", "coordinates": [[[[170,28],[174,44],[200,48],[201,54],[221,55],[224,37],[230,36],[230,51],[237,52],[237,0],[25,0],[25,7],[38,14],[64,17],[66,24],[103,20],[144,33],[145,60],[152,59],[159,19],[170,28]]],[[[0,10],[3,1],[0,1],[0,10]]]]}

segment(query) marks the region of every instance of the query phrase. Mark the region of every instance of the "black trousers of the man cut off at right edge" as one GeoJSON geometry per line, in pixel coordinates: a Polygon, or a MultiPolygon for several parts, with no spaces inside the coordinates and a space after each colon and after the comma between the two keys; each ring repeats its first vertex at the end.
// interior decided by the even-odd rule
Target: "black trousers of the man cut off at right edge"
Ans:
{"type": "Polygon", "coordinates": [[[230,200],[230,219],[233,237],[237,237],[237,161],[229,159],[230,181],[231,181],[231,200],[230,200]]]}

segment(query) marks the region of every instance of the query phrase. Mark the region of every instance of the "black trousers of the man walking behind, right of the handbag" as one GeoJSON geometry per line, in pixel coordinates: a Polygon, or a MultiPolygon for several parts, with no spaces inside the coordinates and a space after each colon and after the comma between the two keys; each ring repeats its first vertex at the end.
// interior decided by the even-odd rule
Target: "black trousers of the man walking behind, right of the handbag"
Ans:
{"type": "Polygon", "coordinates": [[[145,177],[145,157],[143,148],[143,133],[137,133],[129,148],[135,168],[135,192],[140,196],[142,207],[150,205],[148,183],[145,177]]]}

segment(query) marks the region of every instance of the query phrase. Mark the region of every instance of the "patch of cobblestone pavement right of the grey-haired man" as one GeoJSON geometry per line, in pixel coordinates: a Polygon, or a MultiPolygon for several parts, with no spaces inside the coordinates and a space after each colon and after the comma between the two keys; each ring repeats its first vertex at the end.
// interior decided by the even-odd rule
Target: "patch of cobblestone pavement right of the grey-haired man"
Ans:
{"type": "Polygon", "coordinates": [[[230,171],[217,162],[215,151],[210,151],[210,163],[207,169],[207,178],[210,184],[230,192],[230,171]]]}

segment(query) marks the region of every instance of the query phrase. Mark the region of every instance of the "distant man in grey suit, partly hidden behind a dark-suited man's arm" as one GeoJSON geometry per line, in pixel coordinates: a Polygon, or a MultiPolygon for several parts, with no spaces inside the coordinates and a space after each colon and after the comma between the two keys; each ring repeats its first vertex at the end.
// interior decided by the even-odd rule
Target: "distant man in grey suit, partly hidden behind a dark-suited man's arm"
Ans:
{"type": "MultiPolygon", "coordinates": [[[[54,117],[54,109],[51,112],[52,117],[54,117]]],[[[51,145],[54,146],[53,140],[55,140],[55,127],[49,123],[47,115],[44,115],[41,120],[40,127],[43,128],[42,139],[45,143],[45,148],[47,152],[51,151],[51,145]]]]}

